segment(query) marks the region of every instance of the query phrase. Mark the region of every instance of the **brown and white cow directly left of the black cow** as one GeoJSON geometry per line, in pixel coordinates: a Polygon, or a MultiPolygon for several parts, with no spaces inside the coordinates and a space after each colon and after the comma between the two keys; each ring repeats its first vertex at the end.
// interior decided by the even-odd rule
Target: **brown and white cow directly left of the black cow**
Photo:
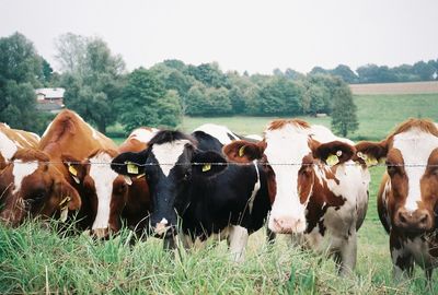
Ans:
{"type": "Polygon", "coordinates": [[[127,178],[113,172],[108,165],[122,152],[138,152],[148,146],[158,131],[141,127],[134,130],[116,150],[93,151],[81,163],[71,160],[73,176],[78,177],[76,188],[83,201],[90,202],[90,225],[92,234],[105,238],[117,233],[120,221],[141,235],[148,225],[150,209],[149,186],[145,177],[127,178]]]}

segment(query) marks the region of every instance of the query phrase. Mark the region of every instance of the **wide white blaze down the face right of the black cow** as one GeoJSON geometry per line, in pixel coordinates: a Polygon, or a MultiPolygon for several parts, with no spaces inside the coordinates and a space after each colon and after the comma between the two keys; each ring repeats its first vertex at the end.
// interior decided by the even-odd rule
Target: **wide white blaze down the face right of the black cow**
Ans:
{"type": "Polygon", "coordinates": [[[296,233],[306,229],[306,204],[300,202],[298,192],[298,172],[302,158],[311,150],[308,144],[308,130],[287,125],[278,130],[265,133],[267,148],[265,155],[270,163],[277,184],[277,194],[269,216],[269,228],[275,232],[275,221],[296,233]],[[293,165],[285,165],[293,164],[293,165]]]}

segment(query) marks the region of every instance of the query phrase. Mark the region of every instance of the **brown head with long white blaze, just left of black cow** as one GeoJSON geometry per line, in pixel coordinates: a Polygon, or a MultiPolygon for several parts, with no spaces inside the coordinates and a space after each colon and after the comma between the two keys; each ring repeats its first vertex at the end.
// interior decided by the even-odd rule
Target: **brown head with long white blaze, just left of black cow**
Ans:
{"type": "Polygon", "coordinates": [[[82,162],[62,155],[76,188],[89,205],[89,212],[84,214],[90,214],[88,217],[92,220],[91,232],[99,238],[120,229],[119,216],[127,201],[128,186],[131,185],[130,178],[116,174],[108,165],[117,154],[111,149],[99,149],[82,162]]]}

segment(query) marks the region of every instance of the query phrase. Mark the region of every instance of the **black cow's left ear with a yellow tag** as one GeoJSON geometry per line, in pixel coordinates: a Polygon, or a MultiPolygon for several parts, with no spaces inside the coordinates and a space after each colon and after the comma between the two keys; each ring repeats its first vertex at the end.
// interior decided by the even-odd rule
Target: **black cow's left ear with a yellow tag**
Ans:
{"type": "Polygon", "coordinates": [[[113,158],[111,168],[118,174],[136,177],[145,174],[145,163],[147,158],[148,150],[139,153],[122,153],[113,158]]]}

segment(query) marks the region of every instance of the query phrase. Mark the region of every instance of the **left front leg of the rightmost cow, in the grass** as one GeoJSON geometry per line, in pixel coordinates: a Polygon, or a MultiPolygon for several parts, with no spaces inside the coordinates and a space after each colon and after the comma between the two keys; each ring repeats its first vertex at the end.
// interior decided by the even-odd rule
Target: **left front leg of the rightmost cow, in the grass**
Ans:
{"type": "Polygon", "coordinates": [[[404,248],[403,241],[393,233],[390,233],[390,251],[394,279],[400,281],[405,274],[412,276],[414,259],[411,252],[404,248]]]}

